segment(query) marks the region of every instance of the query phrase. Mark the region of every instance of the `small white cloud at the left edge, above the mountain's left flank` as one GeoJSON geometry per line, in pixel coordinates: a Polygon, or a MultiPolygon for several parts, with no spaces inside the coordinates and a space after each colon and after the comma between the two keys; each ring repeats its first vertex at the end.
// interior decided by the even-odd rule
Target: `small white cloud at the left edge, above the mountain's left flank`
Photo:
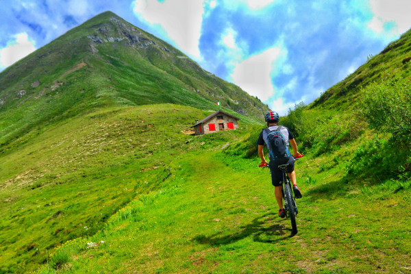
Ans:
{"type": "Polygon", "coordinates": [[[0,66],[10,66],[36,50],[34,42],[29,41],[25,32],[16,34],[14,38],[15,40],[9,41],[7,47],[0,49],[0,66]]]}

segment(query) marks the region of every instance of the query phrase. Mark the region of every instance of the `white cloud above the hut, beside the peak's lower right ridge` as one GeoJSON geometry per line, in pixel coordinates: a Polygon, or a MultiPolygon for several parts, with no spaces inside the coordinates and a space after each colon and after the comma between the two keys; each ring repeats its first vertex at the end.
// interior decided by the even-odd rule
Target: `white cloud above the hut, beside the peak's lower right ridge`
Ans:
{"type": "Polygon", "coordinates": [[[234,68],[232,82],[247,91],[249,95],[266,101],[274,94],[271,71],[281,53],[279,47],[273,47],[243,60],[234,68]]]}

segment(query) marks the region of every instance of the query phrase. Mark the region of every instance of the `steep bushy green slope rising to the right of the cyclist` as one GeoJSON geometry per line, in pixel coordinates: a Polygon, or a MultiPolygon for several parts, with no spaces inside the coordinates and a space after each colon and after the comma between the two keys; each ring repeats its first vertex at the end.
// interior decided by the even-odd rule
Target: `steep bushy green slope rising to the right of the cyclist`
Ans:
{"type": "MultiPolygon", "coordinates": [[[[402,182],[411,176],[411,30],[282,123],[314,156],[351,151],[345,180],[402,182]]],[[[347,159],[348,160],[348,159],[347,159]]],[[[326,166],[330,166],[327,164],[326,166]]],[[[326,169],[326,168],[325,168],[326,169]]]]}

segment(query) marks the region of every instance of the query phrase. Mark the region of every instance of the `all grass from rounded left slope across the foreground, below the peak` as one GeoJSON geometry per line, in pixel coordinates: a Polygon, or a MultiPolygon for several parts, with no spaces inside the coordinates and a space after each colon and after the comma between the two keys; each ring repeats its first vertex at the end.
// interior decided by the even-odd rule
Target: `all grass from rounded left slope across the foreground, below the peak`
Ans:
{"type": "Polygon", "coordinates": [[[172,104],[105,108],[23,136],[0,156],[1,271],[409,269],[410,180],[352,177],[363,138],[297,162],[304,197],[291,237],[269,172],[249,153],[261,126],[182,134],[208,114],[172,104]]]}

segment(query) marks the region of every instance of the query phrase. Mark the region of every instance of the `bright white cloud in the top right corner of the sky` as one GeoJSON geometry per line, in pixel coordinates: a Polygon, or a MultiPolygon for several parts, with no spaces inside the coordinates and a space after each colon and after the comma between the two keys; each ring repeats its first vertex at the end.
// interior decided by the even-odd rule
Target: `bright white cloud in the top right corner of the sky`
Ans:
{"type": "Polygon", "coordinates": [[[374,14],[369,27],[375,32],[382,32],[384,23],[395,22],[398,34],[411,27],[410,0],[371,0],[371,11],[374,14]]]}

